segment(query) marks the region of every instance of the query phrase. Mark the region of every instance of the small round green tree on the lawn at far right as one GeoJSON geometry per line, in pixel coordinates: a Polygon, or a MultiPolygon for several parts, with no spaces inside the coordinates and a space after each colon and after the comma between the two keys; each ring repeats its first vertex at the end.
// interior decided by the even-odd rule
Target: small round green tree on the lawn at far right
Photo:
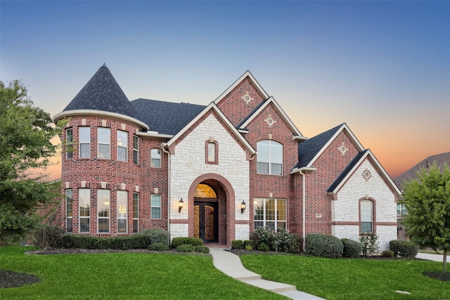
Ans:
{"type": "Polygon", "coordinates": [[[450,250],[450,169],[444,164],[439,170],[436,163],[430,169],[420,169],[418,178],[406,182],[402,203],[408,214],[404,224],[413,242],[419,246],[441,249],[446,256],[450,250]]]}

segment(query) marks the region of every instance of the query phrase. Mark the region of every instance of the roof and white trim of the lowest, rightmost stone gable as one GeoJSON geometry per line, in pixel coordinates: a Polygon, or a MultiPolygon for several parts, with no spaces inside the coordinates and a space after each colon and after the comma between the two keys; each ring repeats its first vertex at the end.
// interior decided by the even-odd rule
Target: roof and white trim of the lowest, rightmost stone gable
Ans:
{"type": "Polygon", "coordinates": [[[387,182],[390,188],[395,193],[397,193],[398,196],[400,196],[401,191],[399,190],[399,187],[394,183],[394,181],[392,181],[392,178],[390,178],[389,174],[387,174],[386,170],[383,168],[380,162],[378,162],[378,159],[376,159],[375,155],[373,155],[370,149],[364,150],[355,155],[355,157],[352,159],[351,162],[349,162],[347,167],[345,167],[345,169],[342,170],[338,178],[336,178],[335,181],[333,181],[333,183],[331,183],[331,185],[327,188],[326,190],[327,193],[338,193],[340,188],[342,188],[342,186],[345,185],[348,179],[354,174],[356,169],[359,168],[361,163],[368,158],[371,159],[375,169],[378,169],[380,176],[384,178],[384,180],[387,182]]]}

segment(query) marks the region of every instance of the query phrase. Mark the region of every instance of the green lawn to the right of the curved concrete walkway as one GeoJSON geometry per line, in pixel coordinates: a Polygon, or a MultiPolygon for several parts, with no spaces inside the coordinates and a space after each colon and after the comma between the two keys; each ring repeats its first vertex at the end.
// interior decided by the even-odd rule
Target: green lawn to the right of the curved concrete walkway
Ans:
{"type": "Polygon", "coordinates": [[[264,279],[295,285],[328,300],[450,299],[450,282],[422,275],[442,263],[418,260],[322,259],[312,256],[242,255],[245,268],[264,279]],[[411,294],[398,294],[396,290],[411,294]]]}

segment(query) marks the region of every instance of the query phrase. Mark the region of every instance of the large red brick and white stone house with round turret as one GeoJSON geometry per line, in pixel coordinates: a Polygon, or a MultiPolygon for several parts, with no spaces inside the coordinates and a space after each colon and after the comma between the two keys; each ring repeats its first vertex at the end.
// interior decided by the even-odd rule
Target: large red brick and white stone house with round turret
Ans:
{"type": "Polygon", "coordinates": [[[63,132],[60,220],[101,237],[162,228],[210,245],[258,226],[301,236],[397,238],[400,195],[347,124],[302,136],[245,72],[208,105],[129,101],[103,65],[54,122],[63,132]]]}

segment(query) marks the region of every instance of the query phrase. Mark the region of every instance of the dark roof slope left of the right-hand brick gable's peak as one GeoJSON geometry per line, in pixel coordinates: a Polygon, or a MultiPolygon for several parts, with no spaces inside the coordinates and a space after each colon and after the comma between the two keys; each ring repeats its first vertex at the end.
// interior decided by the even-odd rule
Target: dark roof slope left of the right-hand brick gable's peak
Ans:
{"type": "Polygon", "coordinates": [[[342,124],[335,126],[334,128],[319,134],[318,136],[314,136],[313,138],[309,138],[307,141],[300,143],[298,145],[298,162],[294,169],[306,167],[307,164],[311,162],[311,159],[313,159],[323,148],[323,146],[330,141],[330,138],[334,136],[341,126],[342,124]]]}

